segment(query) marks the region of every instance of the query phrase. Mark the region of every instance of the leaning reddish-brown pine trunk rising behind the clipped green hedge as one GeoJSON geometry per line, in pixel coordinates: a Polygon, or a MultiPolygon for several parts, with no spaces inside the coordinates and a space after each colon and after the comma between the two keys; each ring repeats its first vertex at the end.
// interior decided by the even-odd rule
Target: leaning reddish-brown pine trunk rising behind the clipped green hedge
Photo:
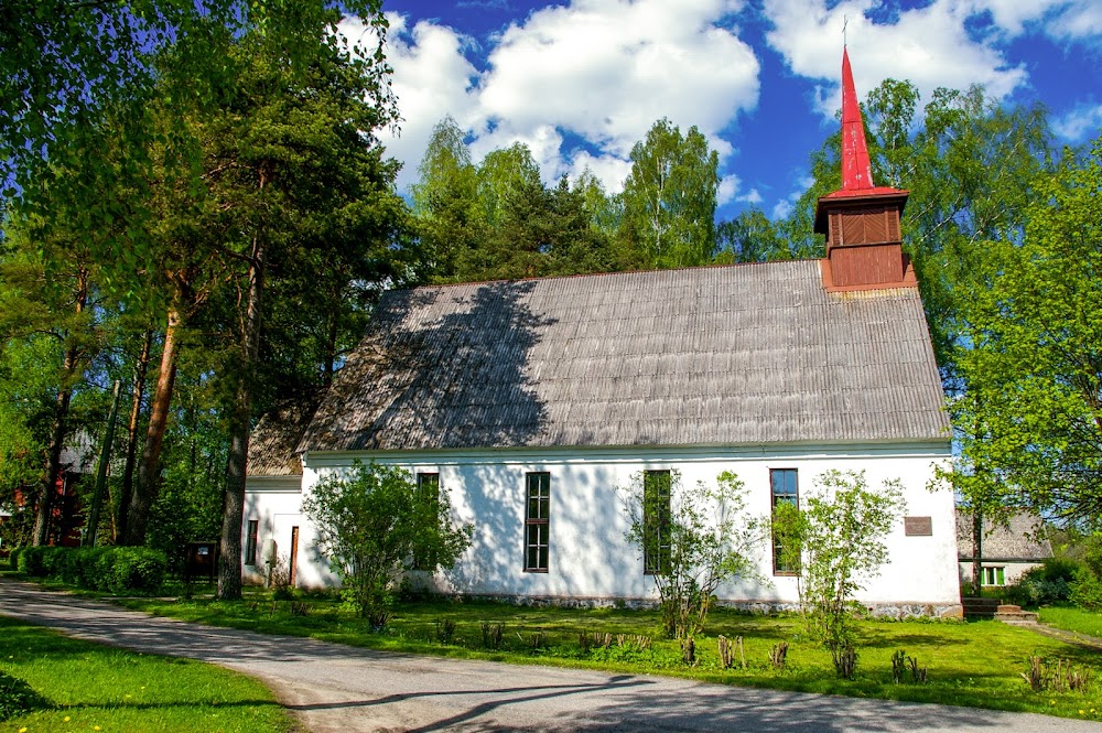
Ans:
{"type": "Polygon", "coordinates": [[[149,525],[149,513],[156,502],[160,489],[161,445],[169,425],[169,407],[172,403],[172,386],[176,379],[177,338],[182,324],[179,306],[169,308],[168,322],[164,328],[164,346],[161,348],[161,370],[156,376],[156,388],[149,411],[149,430],[145,432],[145,445],[142,448],[141,462],[138,464],[138,483],[130,495],[127,508],[127,528],[122,535],[122,543],[139,546],[145,543],[145,530],[149,525]]]}

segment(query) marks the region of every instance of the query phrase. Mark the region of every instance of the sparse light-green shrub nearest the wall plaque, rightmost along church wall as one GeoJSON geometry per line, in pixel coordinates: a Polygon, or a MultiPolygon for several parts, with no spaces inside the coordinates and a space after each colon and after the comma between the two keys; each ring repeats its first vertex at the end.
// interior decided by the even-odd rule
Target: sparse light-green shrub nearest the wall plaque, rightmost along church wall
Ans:
{"type": "Polygon", "coordinates": [[[798,510],[774,517],[775,537],[800,558],[800,614],[831,654],[840,677],[853,675],[855,596],[887,562],[885,537],[905,508],[897,479],[869,489],[864,472],[828,471],[798,510]]]}

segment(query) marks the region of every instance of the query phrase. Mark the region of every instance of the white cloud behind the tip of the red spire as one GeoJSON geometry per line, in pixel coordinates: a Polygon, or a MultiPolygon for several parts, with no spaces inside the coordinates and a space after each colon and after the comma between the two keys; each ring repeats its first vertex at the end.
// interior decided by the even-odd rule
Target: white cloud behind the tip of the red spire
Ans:
{"type": "MultiPolygon", "coordinates": [[[[988,4],[1003,8],[997,0],[988,4]]],[[[843,0],[828,9],[825,0],[766,0],[766,17],[775,28],[767,34],[796,74],[823,79],[819,111],[833,116],[841,107],[840,77],[842,25],[853,62],[854,84],[863,97],[887,77],[910,79],[929,99],[939,86],[965,89],[982,84],[995,98],[1026,82],[1026,71],[1012,66],[991,40],[973,40],[965,21],[976,15],[969,2],[934,0],[925,8],[901,11],[892,24],[875,23],[866,11],[874,0],[843,0]]],[[[1005,4],[1005,8],[1012,6],[1005,4]]],[[[994,10],[992,10],[994,13],[994,10]]],[[[1027,20],[1026,13],[1005,10],[1008,26],[1027,20]]]]}

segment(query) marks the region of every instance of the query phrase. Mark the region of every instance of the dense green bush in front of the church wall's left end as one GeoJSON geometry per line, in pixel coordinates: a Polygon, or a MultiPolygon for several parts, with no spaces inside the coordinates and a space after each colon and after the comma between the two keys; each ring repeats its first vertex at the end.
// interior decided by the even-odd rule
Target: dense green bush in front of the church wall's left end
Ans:
{"type": "Polygon", "coordinates": [[[393,466],[357,461],[348,475],[320,481],[302,510],[318,528],[345,602],[375,627],[386,625],[393,590],[414,557],[451,568],[471,543],[472,528],[454,526],[444,487],[424,500],[413,476],[393,466]]]}

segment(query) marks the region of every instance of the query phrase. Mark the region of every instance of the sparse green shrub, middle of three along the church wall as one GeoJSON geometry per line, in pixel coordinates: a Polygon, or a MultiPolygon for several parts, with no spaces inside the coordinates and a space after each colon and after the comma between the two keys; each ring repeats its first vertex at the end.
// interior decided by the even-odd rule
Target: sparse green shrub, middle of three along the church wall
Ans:
{"type": "Polygon", "coordinates": [[[663,632],[668,638],[692,639],[704,629],[721,583],[757,578],[752,556],[761,527],[746,514],[746,487],[725,471],[714,486],[699,482],[688,488],[671,471],[638,474],[620,492],[629,520],[626,537],[652,571],[663,632]],[[659,491],[656,481],[662,483],[659,491]]]}

